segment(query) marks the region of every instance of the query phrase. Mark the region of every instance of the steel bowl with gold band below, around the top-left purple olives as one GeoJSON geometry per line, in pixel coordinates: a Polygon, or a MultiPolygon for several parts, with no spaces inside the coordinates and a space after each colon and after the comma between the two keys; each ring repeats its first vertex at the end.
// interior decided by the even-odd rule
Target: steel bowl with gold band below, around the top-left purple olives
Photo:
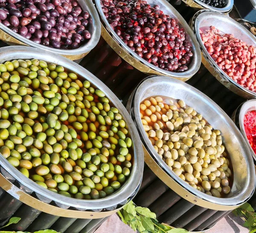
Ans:
{"type": "Polygon", "coordinates": [[[0,40],[3,40],[5,43],[9,45],[23,45],[44,49],[44,52],[47,51],[52,52],[54,54],[59,54],[66,58],[69,58],[70,60],[79,60],[80,58],[84,58],[84,56],[87,55],[99,42],[101,24],[99,20],[99,15],[91,0],[79,0],[78,2],[81,6],[81,9],[89,12],[90,14],[90,26],[88,28],[88,31],[91,34],[90,40],[87,43],[84,43],[78,49],[54,49],[48,46],[35,43],[32,40],[26,39],[18,33],[13,32],[11,29],[4,26],[2,23],[0,23],[0,40]]]}

